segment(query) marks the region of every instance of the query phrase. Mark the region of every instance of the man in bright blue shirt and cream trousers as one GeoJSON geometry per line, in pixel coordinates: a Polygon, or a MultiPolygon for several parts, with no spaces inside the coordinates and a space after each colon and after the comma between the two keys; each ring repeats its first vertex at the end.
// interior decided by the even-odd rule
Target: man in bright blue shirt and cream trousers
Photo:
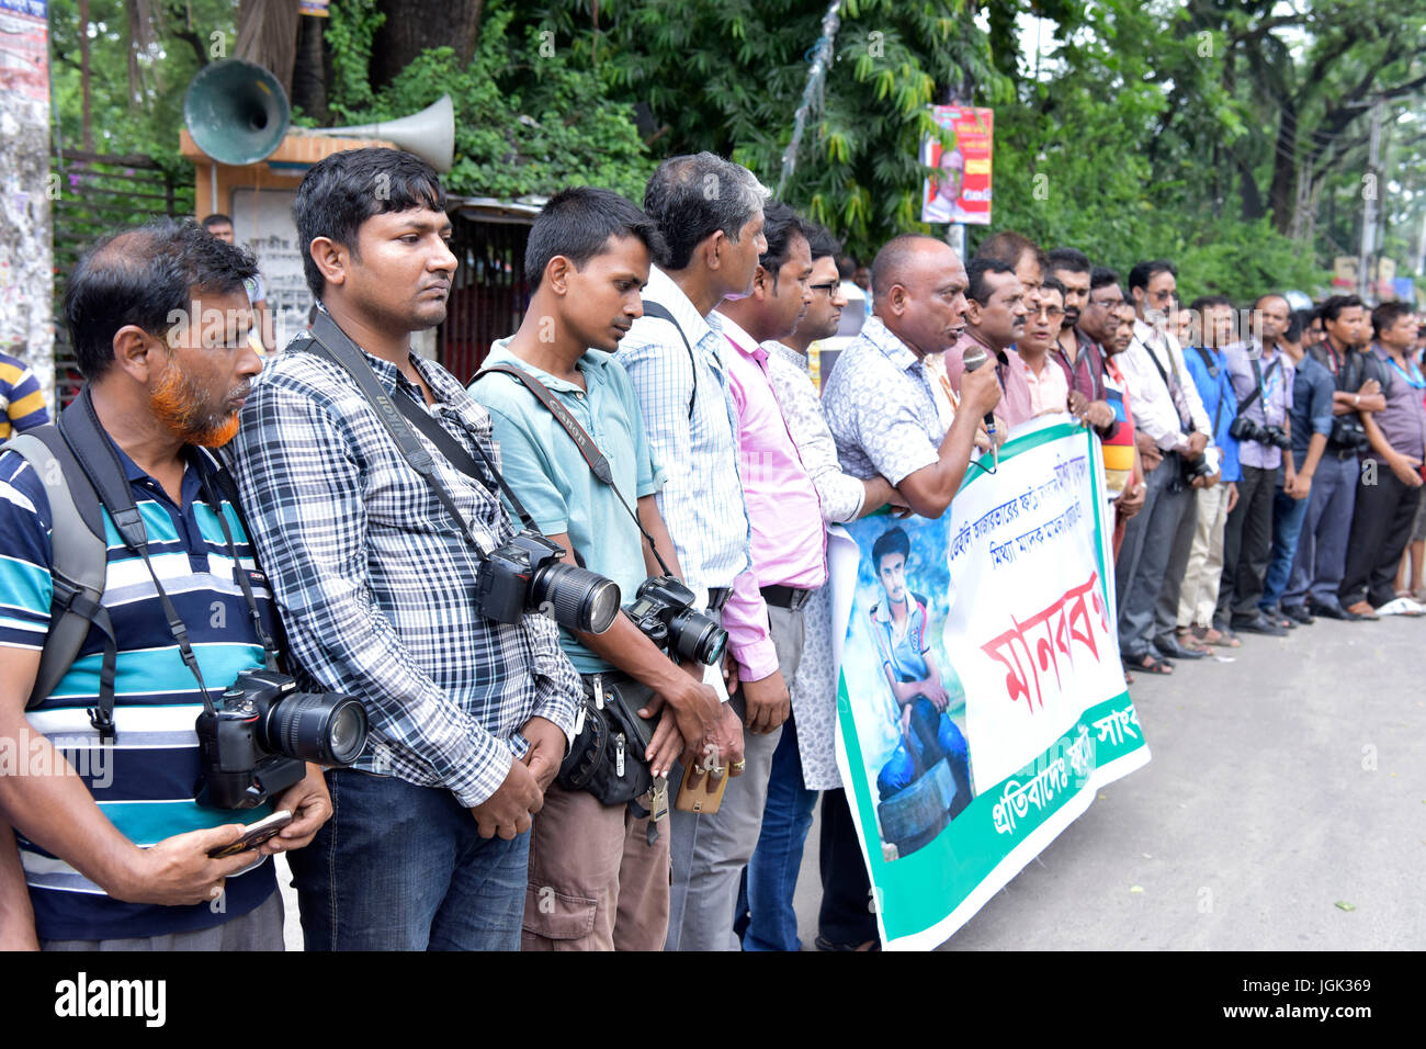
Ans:
{"type": "MultiPolygon", "coordinates": [[[[1228,377],[1224,347],[1232,341],[1233,305],[1226,295],[1195,298],[1189,313],[1201,333],[1199,345],[1184,350],[1184,364],[1194,377],[1194,387],[1204,401],[1204,411],[1214,424],[1214,444],[1222,450],[1221,484],[1198,490],[1198,512],[1194,525],[1194,545],[1184,568],[1184,585],[1178,595],[1178,641],[1181,645],[1238,647],[1238,638],[1226,624],[1214,622],[1218,607],[1218,587],[1224,571],[1224,529],[1228,515],[1238,502],[1238,441],[1228,428],[1233,422],[1233,384],[1228,377]]],[[[1169,574],[1174,567],[1169,565],[1169,574]]]]}

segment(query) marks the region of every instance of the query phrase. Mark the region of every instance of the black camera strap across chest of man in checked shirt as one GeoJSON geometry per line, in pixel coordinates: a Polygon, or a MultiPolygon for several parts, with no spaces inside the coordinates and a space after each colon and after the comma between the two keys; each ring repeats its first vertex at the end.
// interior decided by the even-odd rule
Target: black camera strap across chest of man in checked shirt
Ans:
{"type": "Polygon", "coordinates": [[[461,472],[466,474],[483,488],[489,491],[491,481],[505,498],[511,501],[511,507],[519,517],[520,524],[525,528],[539,532],[535,527],[533,518],[525,511],[525,507],[516,498],[515,492],[511,491],[509,485],[505,484],[505,478],[495,468],[486,457],[485,450],[476,441],[475,450],[481,457],[481,464],[465,448],[461,447],[451,434],[448,434],[439,422],[431,418],[431,414],[425,408],[416,405],[409,397],[398,397],[392,401],[391,395],[382,388],[381,382],[376,381],[376,374],[371,370],[366,358],[362,357],[361,350],[356,344],[351,341],[345,331],[342,331],[337,321],[332,320],[331,314],[325,310],[317,311],[317,320],[312,324],[312,353],[322,354],[334,364],[338,364],[347,371],[348,375],[356,382],[358,388],[376,410],[376,417],[386,427],[386,432],[391,434],[391,440],[396,442],[396,448],[401,451],[402,458],[411,464],[411,468],[421,474],[421,478],[431,487],[436,500],[445,507],[446,512],[455,520],[461,527],[461,534],[466,537],[471,545],[475,548],[476,554],[483,561],[488,551],[481,547],[476,538],[475,529],[465,520],[465,515],[455,505],[455,500],[446,490],[441,477],[436,474],[435,460],[431,458],[431,452],[425,450],[416,435],[411,432],[411,425],[416,427],[425,437],[436,445],[442,455],[461,472]],[[482,465],[483,464],[483,465],[482,465]]]}

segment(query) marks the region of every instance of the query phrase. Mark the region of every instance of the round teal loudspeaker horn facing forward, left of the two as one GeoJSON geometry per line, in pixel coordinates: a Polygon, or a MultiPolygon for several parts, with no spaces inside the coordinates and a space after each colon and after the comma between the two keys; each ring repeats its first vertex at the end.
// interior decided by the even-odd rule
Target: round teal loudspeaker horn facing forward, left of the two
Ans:
{"type": "Polygon", "coordinates": [[[194,144],[220,164],[255,164],[271,156],[291,116],[277,77],[241,59],[205,66],[183,97],[194,144]]]}

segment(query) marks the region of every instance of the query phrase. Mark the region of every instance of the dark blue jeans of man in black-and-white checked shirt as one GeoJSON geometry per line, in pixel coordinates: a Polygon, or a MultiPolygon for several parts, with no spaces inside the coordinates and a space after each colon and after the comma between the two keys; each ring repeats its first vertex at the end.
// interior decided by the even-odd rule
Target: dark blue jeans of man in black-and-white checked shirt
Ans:
{"type": "Polygon", "coordinates": [[[481,838],[449,791],[327,774],[332,818],[288,855],[308,951],[519,951],[529,833],[481,838]]]}

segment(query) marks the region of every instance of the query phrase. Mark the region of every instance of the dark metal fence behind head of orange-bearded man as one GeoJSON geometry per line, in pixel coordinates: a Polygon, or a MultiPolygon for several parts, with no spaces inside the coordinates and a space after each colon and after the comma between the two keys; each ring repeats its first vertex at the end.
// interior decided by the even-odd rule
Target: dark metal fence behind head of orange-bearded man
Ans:
{"type": "Polygon", "coordinates": [[[148,157],[113,157],[81,150],[51,150],[58,196],[54,223],[54,394],[61,405],[83,380],[64,323],[64,288],[80,257],[110,233],[160,216],[191,216],[193,168],[173,174],[148,157]]]}

